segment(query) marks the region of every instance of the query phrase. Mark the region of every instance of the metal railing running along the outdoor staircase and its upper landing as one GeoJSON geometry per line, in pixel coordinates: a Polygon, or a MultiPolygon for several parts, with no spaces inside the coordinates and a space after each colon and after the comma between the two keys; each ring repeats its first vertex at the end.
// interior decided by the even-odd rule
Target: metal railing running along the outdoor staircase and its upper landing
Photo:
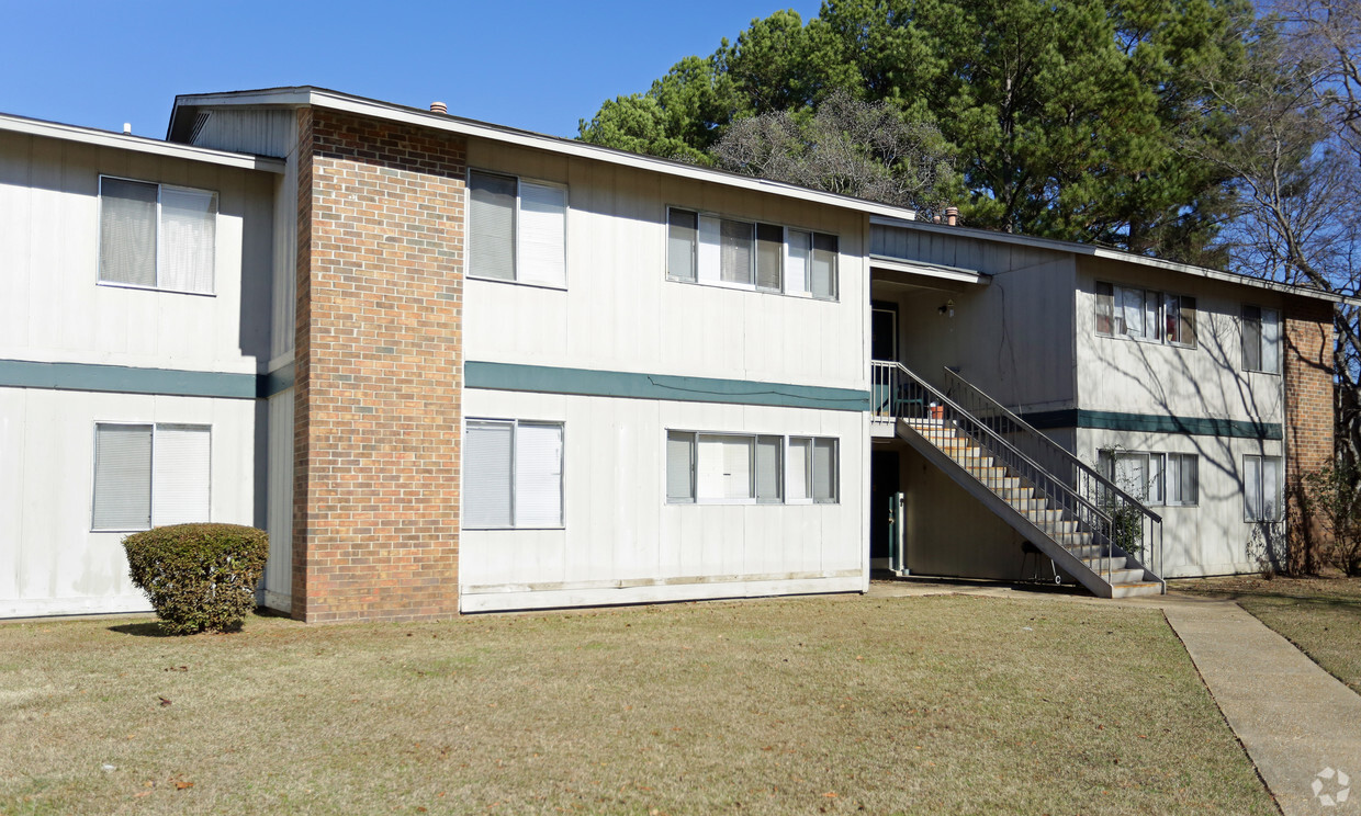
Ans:
{"type": "Polygon", "coordinates": [[[1053,541],[1070,552],[1092,548],[1078,558],[1106,583],[1115,583],[1116,571],[1135,568],[1124,566],[1121,555],[1162,581],[1158,514],[958,374],[946,370],[946,377],[949,394],[902,363],[872,360],[872,420],[905,419],[927,438],[939,428],[932,442],[943,442],[946,453],[1053,541]],[[951,443],[953,434],[970,439],[992,462],[969,466],[968,449],[951,443]]]}

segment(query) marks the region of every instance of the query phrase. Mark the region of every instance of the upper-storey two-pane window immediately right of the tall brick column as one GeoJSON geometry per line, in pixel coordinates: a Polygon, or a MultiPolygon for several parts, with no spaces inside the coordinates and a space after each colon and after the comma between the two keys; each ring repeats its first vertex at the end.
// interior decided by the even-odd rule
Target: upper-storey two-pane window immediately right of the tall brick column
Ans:
{"type": "Polygon", "coordinates": [[[568,286],[568,188],[468,171],[468,276],[568,286]]]}

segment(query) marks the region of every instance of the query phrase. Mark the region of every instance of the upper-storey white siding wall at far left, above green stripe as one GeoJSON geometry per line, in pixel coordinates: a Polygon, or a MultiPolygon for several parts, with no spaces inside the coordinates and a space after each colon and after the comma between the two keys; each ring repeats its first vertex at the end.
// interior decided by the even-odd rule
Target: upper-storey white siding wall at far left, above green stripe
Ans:
{"type": "Polygon", "coordinates": [[[272,185],[265,173],[0,133],[0,359],[256,373],[272,185]],[[97,284],[99,174],[218,192],[214,295],[97,284]]]}

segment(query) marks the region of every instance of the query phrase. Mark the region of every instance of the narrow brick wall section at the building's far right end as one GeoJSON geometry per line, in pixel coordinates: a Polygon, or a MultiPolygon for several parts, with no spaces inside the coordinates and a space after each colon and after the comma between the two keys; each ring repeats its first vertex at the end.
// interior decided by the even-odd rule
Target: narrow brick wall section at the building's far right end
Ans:
{"type": "Polygon", "coordinates": [[[1317,522],[1300,507],[1302,477],[1332,457],[1332,305],[1294,301],[1285,310],[1285,494],[1292,568],[1300,544],[1320,541],[1317,522]]]}

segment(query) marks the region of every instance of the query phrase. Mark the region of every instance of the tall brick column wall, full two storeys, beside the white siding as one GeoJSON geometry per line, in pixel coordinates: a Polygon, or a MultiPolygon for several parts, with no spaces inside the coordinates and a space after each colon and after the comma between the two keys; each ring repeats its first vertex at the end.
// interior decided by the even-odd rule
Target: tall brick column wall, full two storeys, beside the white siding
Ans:
{"type": "Polygon", "coordinates": [[[299,131],[293,615],[456,615],[465,143],[299,131]]]}

